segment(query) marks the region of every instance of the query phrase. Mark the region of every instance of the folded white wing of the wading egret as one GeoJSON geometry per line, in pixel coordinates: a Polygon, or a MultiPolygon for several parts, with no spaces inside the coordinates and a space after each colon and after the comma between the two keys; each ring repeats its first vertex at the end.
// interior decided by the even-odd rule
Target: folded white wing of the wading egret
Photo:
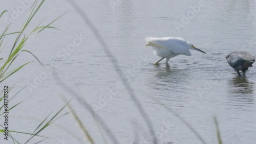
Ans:
{"type": "Polygon", "coordinates": [[[183,54],[190,56],[191,53],[188,50],[187,42],[182,38],[176,38],[176,37],[162,37],[162,38],[156,38],[156,37],[146,37],[146,44],[145,46],[152,46],[152,47],[158,47],[162,49],[167,49],[170,51],[173,51],[175,54],[183,54]]]}

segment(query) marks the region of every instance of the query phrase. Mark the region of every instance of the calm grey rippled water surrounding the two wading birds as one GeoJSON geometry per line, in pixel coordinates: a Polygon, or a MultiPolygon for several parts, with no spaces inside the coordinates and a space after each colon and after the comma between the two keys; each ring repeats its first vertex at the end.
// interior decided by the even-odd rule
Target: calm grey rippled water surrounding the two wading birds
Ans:
{"type": "MultiPolygon", "coordinates": [[[[0,9],[9,11],[6,16],[23,6],[20,2],[4,3],[0,9]]],[[[218,118],[223,143],[255,143],[256,69],[249,68],[246,77],[239,78],[225,59],[233,51],[248,51],[256,56],[256,4],[253,1],[97,0],[76,3],[110,47],[123,78],[129,81],[150,116],[159,143],[201,143],[163,104],[183,117],[207,143],[218,143],[214,115],[218,118]],[[185,19],[187,15],[189,18],[185,19]],[[182,37],[207,55],[192,51],[190,57],[180,55],[170,59],[168,65],[162,61],[154,66],[160,58],[153,54],[151,47],[143,47],[147,36],[182,37]]],[[[65,12],[53,24],[63,31],[46,30],[32,38],[24,49],[33,52],[50,70],[50,62],[57,63],[54,73],[97,109],[97,114],[110,128],[108,133],[115,135],[120,143],[150,143],[148,127],[126,89],[120,87],[120,78],[110,56],[106,56],[97,37],[69,3],[46,1],[26,34],[49,13],[44,25],[65,12]],[[75,34],[82,36],[80,41],[75,34]],[[71,49],[73,41],[76,46],[71,49]],[[111,94],[114,96],[110,97],[111,94]]],[[[20,12],[9,32],[18,31],[28,14],[29,9],[20,12]]],[[[0,26],[6,26],[3,18],[0,26]]],[[[8,54],[13,37],[6,40],[8,43],[1,57],[8,54]]],[[[21,53],[13,67],[27,61],[36,60],[21,53]]],[[[32,95],[10,112],[11,130],[33,132],[42,119],[65,105],[63,96],[68,100],[73,98],[74,95],[58,85],[52,73],[45,74],[35,62],[3,83],[16,84],[12,94],[29,82],[36,86],[25,87],[10,103],[14,105],[32,95]],[[43,80],[40,82],[38,77],[43,80]]],[[[95,143],[104,143],[100,133],[103,130],[99,130],[90,112],[75,98],[71,105],[95,143]]],[[[67,108],[62,113],[69,111],[67,108]]],[[[0,119],[3,123],[3,118],[0,119]]],[[[108,143],[112,143],[107,132],[103,133],[108,143]]],[[[21,143],[29,138],[24,134],[13,135],[21,143]]],[[[41,135],[52,138],[42,143],[89,143],[71,114],[59,118],[41,135]]],[[[44,138],[37,137],[31,143],[41,139],[44,138]]],[[[2,136],[0,142],[6,142],[2,136]]]]}

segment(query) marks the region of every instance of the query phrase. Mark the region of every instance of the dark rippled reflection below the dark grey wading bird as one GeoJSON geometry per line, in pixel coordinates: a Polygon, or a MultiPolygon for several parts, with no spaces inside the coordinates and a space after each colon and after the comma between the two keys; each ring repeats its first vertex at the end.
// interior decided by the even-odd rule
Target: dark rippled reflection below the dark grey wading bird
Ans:
{"type": "Polygon", "coordinates": [[[254,103],[254,83],[247,77],[234,77],[229,80],[229,105],[249,106],[254,103]]]}

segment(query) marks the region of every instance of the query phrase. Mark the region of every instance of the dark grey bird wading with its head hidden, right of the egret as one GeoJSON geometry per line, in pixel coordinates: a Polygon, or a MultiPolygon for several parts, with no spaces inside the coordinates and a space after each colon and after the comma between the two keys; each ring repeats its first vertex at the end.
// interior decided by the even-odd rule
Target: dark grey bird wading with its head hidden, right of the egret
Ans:
{"type": "Polygon", "coordinates": [[[245,76],[245,71],[249,67],[252,67],[253,62],[255,61],[255,57],[245,51],[232,52],[226,56],[226,59],[228,64],[234,69],[234,71],[237,71],[240,77],[242,76],[239,71],[243,71],[243,76],[245,76]]]}

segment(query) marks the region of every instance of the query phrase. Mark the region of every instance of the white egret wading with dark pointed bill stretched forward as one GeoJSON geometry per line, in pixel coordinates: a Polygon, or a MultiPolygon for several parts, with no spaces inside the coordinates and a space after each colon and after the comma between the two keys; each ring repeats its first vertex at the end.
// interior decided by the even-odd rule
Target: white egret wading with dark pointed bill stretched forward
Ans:
{"type": "Polygon", "coordinates": [[[197,49],[193,44],[180,37],[146,37],[145,40],[146,44],[144,46],[152,46],[154,54],[162,57],[154,64],[158,64],[164,58],[166,58],[165,63],[167,63],[170,58],[178,55],[191,56],[189,49],[206,54],[204,51],[197,49]]]}

